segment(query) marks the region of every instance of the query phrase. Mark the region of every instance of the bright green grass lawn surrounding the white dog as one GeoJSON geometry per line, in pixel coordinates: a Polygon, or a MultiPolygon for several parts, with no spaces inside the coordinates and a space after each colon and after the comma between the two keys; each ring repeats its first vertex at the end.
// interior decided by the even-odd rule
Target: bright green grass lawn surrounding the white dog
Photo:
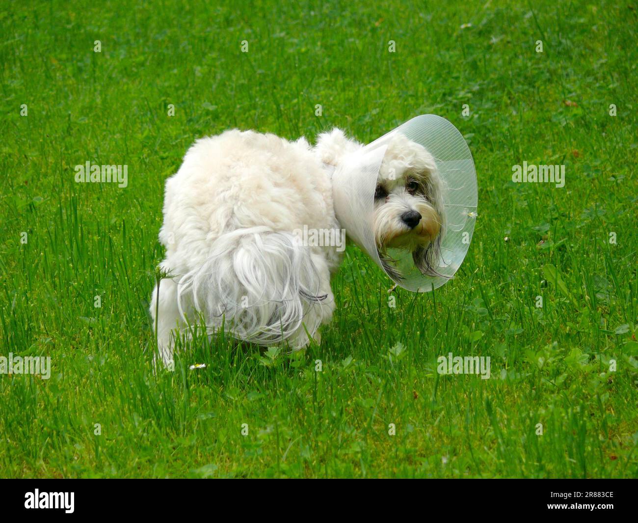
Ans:
{"type": "Polygon", "coordinates": [[[0,355],[51,356],[52,375],[0,375],[0,476],[638,476],[637,16],[626,1],[3,1],[0,355]],[[425,113],[461,130],[479,179],[454,281],[397,289],[391,308],[349,247],[320,346],[195,340],[153,375],[163,185],[193,140],[339,126],[367,142],[425,113]],[[565,188],[512,183],[524,160],[566,165],[565,188]],[[128,165],[128,186],[75,183],[87,161],[128,165]],[[490,356],[492,378],[439,375],[448,352],[490,356]]]}

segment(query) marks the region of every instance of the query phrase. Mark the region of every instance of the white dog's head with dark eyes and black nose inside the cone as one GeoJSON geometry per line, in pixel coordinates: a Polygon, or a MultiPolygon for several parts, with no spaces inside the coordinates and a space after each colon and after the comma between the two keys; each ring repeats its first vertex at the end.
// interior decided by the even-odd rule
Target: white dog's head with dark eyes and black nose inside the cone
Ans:
{"type": "Polygon", "coordinates": [[[383,268],[395,279],[402,275],[388,248],[408,250],[422,274],[441,276],[436,267],[445,230],[442,192],[434,156],[404,135],[392,138],[377,179],[373,229],[383,268]]]}

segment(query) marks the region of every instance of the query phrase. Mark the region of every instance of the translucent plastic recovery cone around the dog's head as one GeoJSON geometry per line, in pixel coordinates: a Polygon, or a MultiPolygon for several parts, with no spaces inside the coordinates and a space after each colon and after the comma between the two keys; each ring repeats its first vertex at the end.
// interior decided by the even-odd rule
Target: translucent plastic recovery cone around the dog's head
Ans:
{"type": "Polygon", "coordinates": [[[332,175],[334,207],[341,227],[387,275],[408,291],[427,292],[448,282],[470,248],[477,216],[477,178],[470,149],[461,133],[445,118],[417,116],[371,144],[349,155],[332,175]],[[443,225],[440,254],[434,263],[440,276],[427,276],[415,267],[412,252],[388,248],[392,271],[383,268],[379,256],[373,215],[375,188],[390,141],[403,134],[434,156],[442,183],[443,225]]]}

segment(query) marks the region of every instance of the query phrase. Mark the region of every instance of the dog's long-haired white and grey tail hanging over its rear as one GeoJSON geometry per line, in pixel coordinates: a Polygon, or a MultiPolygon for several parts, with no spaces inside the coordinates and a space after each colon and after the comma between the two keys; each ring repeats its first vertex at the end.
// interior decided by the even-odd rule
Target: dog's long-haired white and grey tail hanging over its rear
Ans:
{"type": "Polygon", "coordinates": [[[223,326],[242,340],[287,340],[293,348],[306,345],[334,310],[322,257],[294,234],[268,227],[216,239],[207,261],[179,278],[177,299],[182,319],[201,315],[209,332],[223,326]]]}

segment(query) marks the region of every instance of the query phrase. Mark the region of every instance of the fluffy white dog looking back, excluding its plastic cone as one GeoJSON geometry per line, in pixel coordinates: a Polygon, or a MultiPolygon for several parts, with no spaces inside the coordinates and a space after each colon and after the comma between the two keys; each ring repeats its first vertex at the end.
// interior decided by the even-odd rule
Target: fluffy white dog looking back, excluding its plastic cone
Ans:
{"type": "MultiPolygon", "coordinates": [[[[304,245],[294,231],[341,230],[330,174],[360,148],[338,129],[314,148],[304,138],[239,130],[195,142],[167,180],[159,232],[168,277],[152,293],[151,315],[166,365],[175,340],[197,325],[292,349],[319,340],[334,311],[330,274],[341,253],[304,245]]],[[[377,183],[372,227],[385,269],[401,277],[385,249],[404,248],[422,273],[437,275],[444,217],[433,156],[397,135],[377,183]]]]}

